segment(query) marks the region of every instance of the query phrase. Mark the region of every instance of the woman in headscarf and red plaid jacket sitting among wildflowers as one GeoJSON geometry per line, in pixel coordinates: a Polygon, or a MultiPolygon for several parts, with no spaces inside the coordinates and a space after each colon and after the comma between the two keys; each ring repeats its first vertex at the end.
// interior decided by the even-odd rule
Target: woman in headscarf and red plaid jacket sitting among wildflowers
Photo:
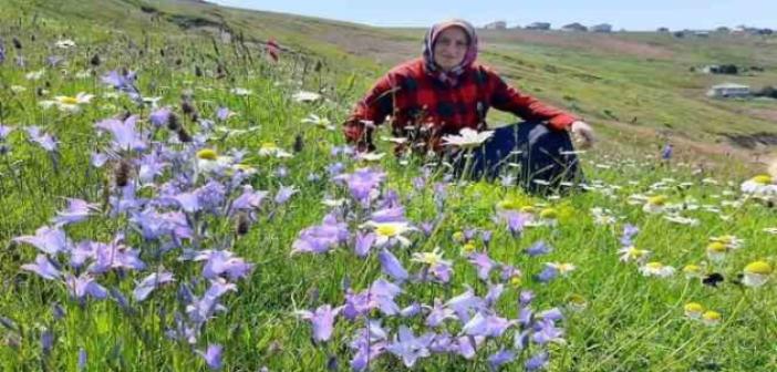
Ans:
{"type": "MultiPolygon", "coordinates": [[[[375,125],[390,117],[395,136],[410,142],[397,146],[426,152],[444,149],[441,138],[460,130],[485,130],[489,107],[511,112],[527,122],[496,130],[474,152],[474,175],[495,177],[511,156],[520,154],[522,182],[535,190],[579,176],[577,157],[567,133],[583,146],[593,142],[588,124],[507,85],[491,69],[475,63],[475,28],[463,20],[437,23],[424,40],[419,59],[402,63],[382,76],[344,124],[349,142],[372,151],[375,125]]],[[[464,162],[458,162],[459,168],[464,162]]],[[[460,170],[460,169],[459,169],[460,170]]]]}

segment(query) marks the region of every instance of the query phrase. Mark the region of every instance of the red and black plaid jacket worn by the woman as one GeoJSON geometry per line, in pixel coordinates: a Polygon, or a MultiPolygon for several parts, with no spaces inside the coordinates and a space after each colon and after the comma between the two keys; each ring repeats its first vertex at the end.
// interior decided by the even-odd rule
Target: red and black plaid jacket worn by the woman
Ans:
{"type": "Polygon", "coordinates": [[[373,149],[374,126],[390,116],[395,136],[422,133],[426,145],[439,149],[439,138],[445,134],[457,134],[463,127],[485,128],[490,106],[527,121],[547,121],[556,130],[564,130],[577,120],[518,92],[485,65],[473,64],[458,78],[457,85],[449,87],[426,73],[423,59],[415,59],[392,69],[375,83],[356,103],[343,132],[361,149],[373,149]]]}

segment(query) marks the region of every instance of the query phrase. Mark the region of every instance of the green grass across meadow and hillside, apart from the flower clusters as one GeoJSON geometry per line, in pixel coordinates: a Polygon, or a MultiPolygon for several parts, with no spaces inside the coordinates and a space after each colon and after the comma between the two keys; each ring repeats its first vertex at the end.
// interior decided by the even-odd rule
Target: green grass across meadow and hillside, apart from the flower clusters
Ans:
{"type": "MultiPolygon", "coordinates": [[[[315,345],[310,341],[309,322],[300,320],[293,312],[323,303],[343,303],[343,283],[350,282],[356,291],[365,289],[382,275],[379,260],[374,252],[366,259],[355,257],[351,242],[327,255],[290,256],[290,251],[299,232],[320,224],[327,214],[328,207],[321,203],[324,197],[349,197],[342,186],[325,178],[309,180],[309,174],[324,175],[333,162],[342,162],[346,172],[364,166],[364,163],[350,156],[330,155],[332,146],[343,143],[339,131],[311,127],[301,120],[315,113],[334,124],[340,123],[352,102],[385,66],[369,56],[350,55],[338,44],[323,43],[317,34],[349,30],[371,38],[413,43],[419,32],[216,9],[187,1],[156,6],[166,14],[217,18],[218,13],[235,30],[242,30],[246,40],[265,40],[274,35],[283,44],[310,53],[307,60],[325,62],[327,68],[321,73],[313,73],[304,71],[305,59],[302,58],[284,54],[280,64],[270,64],[262,60],[258,46],[250,46],[247,52],[237,42],[214,43],[208,33],[182,32],[167,21],[152,23],[148,13],[141,11],[136,2],[106,1],[101,4],[66,2],[58,7],[42,1],[0,4],[3,21],[0,35],[9,56],[0,65],[0,122],[15,127],[39,125],[60,141],[55,167],[51,156],[30,144],[27,134],[20,130],[9,136],[6,144],[11,151],[0,159],[0,278],[3,288],[0,291],[0,316],[15,324],[12,329],[0,327],[0,366],[9,371],[75,370],[77,353],[83,349],[89,355],[86,366],[91,371],[205,370],[203,359],[193,350],[218,343],[225,348],[225,370],[268,366],[271,371],[318,371],[325,369],[331,355],[336,358],[340,370],[348,370],[348,361],[353,356],[348,343],[359,324],[339,318],[333,339],[315,345]],[[33,23],[35,14],[38,18],[33,23]],[[112,23],[116,27],[111,28],[95,27],[81,21],[86,16],[118,23],[112,23]],[[298,31],[301,25],[307,29],[298,31]],[[76,41],[74,50],[53,49],[53,42],[63,33],[76,41]],[[35,41],[32,41],[32,35],[35,41]],[[10,44],[13,37],[24,45],[21,53],[29,63],[25,69],[13,64],[18,53],[10,44]],[[160,49],[164,49],[164,55],[160,49]],[[63,69],[68,73],[62,72],[63,69],[45,69],[44,78],[39,81],[24,78],[27,72],[44,69],[45,56],[54,52],[65,58],[63,69]],[[76,72],[89,71],[87,63],[94,53],[101,55],[102,64],[91,76],[75,78],[76,72]],[[177,60],[182,63],[176,63],[177,60]],[[229,71],[225,79],[214,75],[219,63],[229,71]],[[299,189],[284,205],[266,200],[257,210],[257,220],[249,232],[235,240],[230,240],[234,237],[231,219],[207,217],[210,235],[200,238],[200,248],[227,244],[237,256],[256,267],[248,278],[237,281],[236,293],[222,297],[221,302],[228,311],[217,313],[208,321],[194,345],[167,339],[164,331],[173,326],[176,311],[185,311],[185,304],[177,299],[178,283],[197,278],[201,264],[177,261],[179,249],[157,260],[154,252],[158,247],[143,241],[136,231],[127,230],[130,223],[125,217],[113,218],[101,209],[87,221],[68,226],[65,230],[73,241],[103,242],[126,230],[126,244],[141,249],[144,261],[154,268],[162,265],[174,272],[176,283],[157,289],[146,301],[131,301],[133,312],[125,312],[111,299],[90,299],[82,306],[69,297],[62,282],[43,280],[20,270],[20,266],[31,262],[38,252],[29,245],[12,242],[13,237],[34,234],[37,228],[50,224],[50,219],[63,208],[63,197],[102,204],[106,193],[115,195],[112,168],[90,166],[90,153],[108,145],[108,138],[97,136],[93,125],[124,111],[139,115],[144,127],[149,125],[146,121],[148,107],[139,108],[125,96],[107,97],[106,94],[113,91],[99,82],[100,75],[122,66],[138,71],[137,85],[144,96],[159,96],[160,104],[173,106],[179,115],[180,96],[188,93],[193,95],[200,117],[214,118],[219,106],[227,106],[237,113],[227,122],[229,127],[240,130],[258,125],[259,131],[251,134],[210,138],[203,146],[216,148],[221,154],[230,148],[248,151],[245,163],[257,168],[258,174],[247,183],[255,189],[270,192],[270,199],[281,185],[293,185],[299,189]],[[195,75],[195,66],[205,71],[203,78],[195,75]],[[14,93],[12,85],[27,90],[14,93]],[[37,96],[39,87],[48,91],[42,97],[37,96]],[[253,94],[236,96],[229,93],[232,87],[250,89],[253,94]],[[325,102],[303,104],[291,100],[291,95],[301,89],[317,91],[322,87],[325,87],[325,102]],[[43,99],[82,91],[96,97],[77,114],[62,114],[56,108],[43,110],[39,105],[43,99]],[[291,152],[298,135],[303,137],[304,146],[292,158],[258,156],[266,142],[274,142],[291,152]],[[276,175],[281,166],[288,169],[286,177],[276,175]],[[52,307],[55,303],[64,308],[64,318],[54,318],[52,307]],[[40,344],[43,330],[50,330],[55,337],[49,354],[40,344]]],[[[566,342],[549,348],[551,371],[775,370],[776,278],[773,275],[771,280],[758,289],[742,288],[733,281],[750,261],[763,259],[773,266],[777,262],[773,248],[777,236],[763,230],[777,227],[774,209],[738,192],[739,183],[753,176],[753,172],[737,159],[723,155],[700,158],[698,153],[691,146],[684,147],[682,142],[677,144],[678,156],[672,163],[663,164],[656,159],[660,149],[656,146],[663,141],[626,124],[631,116],[639,117],[634,125],[640,128],[666,130],[669,123],[672,133],[682,133],[701,143],[711,143],[716,138],[714,134],[721,131],[769,131],[770,123],[735,115],[736,103],[709,103],[695,97],[694,90],[703,91],[708,78],[687,74],[687,65],[701,63],[711,54],[740,55],[748,50],[747,46],[736,41],[722,42],[723,46],[716,46],[718,50],[711,49],[712,41],[676,41],[645,34],[618,37],[666,45],[682,61],[673,63],[670,60],[645,61],[633,55],[613,55],[605,50],[584,52],[537,43],[512,45],[499,42],[498,35],[488,34],[487,38],[494,38],[489,44],[494,49],[487,49],[484,59],[512,82],[584,114],[594,124],[601,121],[599,132],[607,141],[583,155],[583,166],[589,180],[603,186],[561,199],[543,199],[498,184],[453,183],[447,186],[445,207],[438,209],[431,185],[442,180],[439,174],[433,175],[429,186],[415,189],[412,180],[421,175],[421,159],[411,159],[405,166],[391,156],[385,157],[372,165],[387,173],[382,189],[398,193],[411,221],[441,220],[429,237],[412,234],[413,245],[407,249],[395,249],[396,256],[412,272],[421,269],[419,264],[411,262],[412,252],[441,247],[444,257],[454,261],[449,286],[407,283],[405,293],[397,298],[400,304],[448,299],[462,293],[465,285],[485,296],[487,287],[462,256],[464,245],[456,236],[468,228],[488,229],[494,231],[488,249],[477,241],[476,249],[522,271],[520,287],[506,288],[496,307],[499,312],[508,318],[517,316],[519,289],[531,289],[537,293],[533,304],[537,310],[564,309],[566,319],[559,327],[564,329],[566,342]],[[600,79],[591,81],[590,76],[600,79]],[[607,116],[604,110],[618,118],[607,116]],[[706,163],[704,169],[696,172],[702,162],[706,163]],[[667,177],[674,180],[664,182],[665,187],[655,184],[667,177]],[[702,183],[705,177],[717,179],[719,185],[702,183]],[[681,187],[684,182],[692,185],[681,187]],[[708,205],[719,208],[719,211],[685,210],[682,215],[696,218],[698,226],[677,225],[665,220],[663,215],[642,211],[642,204],[628,204],[634,194],[664,194],[672,204],[708,205]],[[496,206],[508,199],[538,209],[556,208],[558,225],[528,228],[519,238],[514,238],[504,225],[493,220],[496,206]],[[738,207],[724,205],[724,200],[742,200],[743,204],[738,207]],[[611,210],[617,221],[594,224],[591,217],[594,207],[611,210]],[[708,261],[705,248],[711,237],[735,235],[745,244],[732,250],[723,262],[707,264],[708,272],[716,271],[726,277],[718,288],[704,286],[697,279],[686,280],[680,272],[665,279],[648,278],[640,275],[635,264],[619,262],[617,250],[625,224],[640,227],[635,240],[638,248],[651,250],[652,259],[678,270],[687,264],[708,261]],[[536,258],[525,255],[524,250],[538,240],[550,244],[552,252],[536,258]],[[577,269],[567,278],[541,285],[533,275],[549,261],[570,262],[577,269]],[[578,312],[567,310],[572,294],[584,298],[588,306],[578,312]],[[687,319],[683,306],[691,301],[718,311],[723,317],[721,324],[706,327],[687,319]]],[[[774,66],[773,52],[749,51],[763,59],[760,63],[771,63],[767,64],[770,69],[774,66]]],[[[774,70],[769,71],[767,78],[774,74],[774,70]]],[[[756,102],[746,104],[768,107],[756,102]]],[[[512,118],[508,115],[494,116],[494,122],[509,120],[512,118]]],[[[184,125],[191,133],[206,133],[196,123],[184,121],[184,125]]],[[[155,140],[164,142],[169,136],[163,130],[155,140]]],[[[172,146],[186,149],[195,145],[172,146]]],[[[390,153],[390,144],[380,143],[380,149],[390,153]]],[[[162,179],[170,176],[166,172],[162,179]]],[[[158,190],[146,188],[142,195],[156,193],[158,190]]],[[[356,221],[350,223],[352,232],[358,230],[356,225],[356,221]]],[[[60,259],[65,261],[63,256],[60,259]]],[[[112,271],[99,276],[97,280],[106,288],[131,296],[136,281],[147,273],[112,271]]],[[[491,279],[496,280],[496,277],[491,279]]],[[[206,283],[199,280],[191,287],[201,296],[206,283]]],[[[412,327],[416,334],[425,330],[423,319],[418,317],[384,320],[392,334],[400,324],[412,327]]],[[[450,322],[448,330],[455,333],[460,330],[460,324],[450,322]]],[[[486,342],[472,361],[434,355],[419,360],[416,369],[487,371],[487,356],[501,347],[510,348],[512,332],[508,331],[507,338],[486,342]]],[[[527,356],[520,354],[520,360],[507,365],[507,370],[521,370],[519,363],[527,356]]],[[[393,371],[401,369],[401,363],[386,353],[371,370],[393,371]]]]}

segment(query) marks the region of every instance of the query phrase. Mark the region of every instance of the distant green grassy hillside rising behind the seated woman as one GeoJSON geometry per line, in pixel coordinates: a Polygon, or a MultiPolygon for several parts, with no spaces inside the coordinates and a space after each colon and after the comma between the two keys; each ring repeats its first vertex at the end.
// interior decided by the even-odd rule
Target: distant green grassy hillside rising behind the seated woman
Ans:
{"type": "MultiPolygon", "coordinates": [[[[273,37],[294,51],[324,61],[327,68],[359,76],[354,94],[393,63],[417,55],[424,32],[230,9],[198,1],[110,0],[100,6],[89,1],[4,3],[6,17],[39,14],[69,28],[96,24],[165,38],[196,34],[219,38],[218,30],[222,29],[246,42],[263,42],[273,37]]],[[[518,87],[597,124],[609,141],[639,135],[652,142],[662,134],[661,138],[696,143],[687,147],[711,153],[738,153],[737,147],[743,145],[753,149],[758,141],[775,141],[777,104],[773,100],[718,101],[707,99],[704,93],[723,82],[744,83],[754,89],[777,84],[777,48],[773,48],[777,38],[713,34],[707,39],[677,39],[651,32],[483,30],[481,39],[485,63],[518,87]],[[715,63],[755,65],[765,71],[739,76],[690,71],[715,63]]],[[[512,118],[495,113],[493,121],[512,118]]]]}

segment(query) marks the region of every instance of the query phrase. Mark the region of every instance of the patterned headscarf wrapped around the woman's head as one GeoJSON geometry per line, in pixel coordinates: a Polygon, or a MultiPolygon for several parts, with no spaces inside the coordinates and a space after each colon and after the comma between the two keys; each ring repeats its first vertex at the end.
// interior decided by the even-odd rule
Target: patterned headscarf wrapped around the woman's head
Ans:
{"type": "Polygon", "coordinates": [[[453,19],[434,24],[426,32],[426,37],[424,38],[424,64],[426,66],[426,72],[435,76],[444,84],[455,86],[458,83],[458,78],[475,62],[476,59],[477,33],[475,33],[475,27],[473,27],[469,22],[460,19],[453,19]],[[450,71],[442,71],[434,63],[434,44],[437,42],[439,34],[450,27],[459,27],[464,30],[469,38],[469,46],[467,48],[467,52],[464,54],[464,59],[457,66],[453,68],[450,71]]]}

